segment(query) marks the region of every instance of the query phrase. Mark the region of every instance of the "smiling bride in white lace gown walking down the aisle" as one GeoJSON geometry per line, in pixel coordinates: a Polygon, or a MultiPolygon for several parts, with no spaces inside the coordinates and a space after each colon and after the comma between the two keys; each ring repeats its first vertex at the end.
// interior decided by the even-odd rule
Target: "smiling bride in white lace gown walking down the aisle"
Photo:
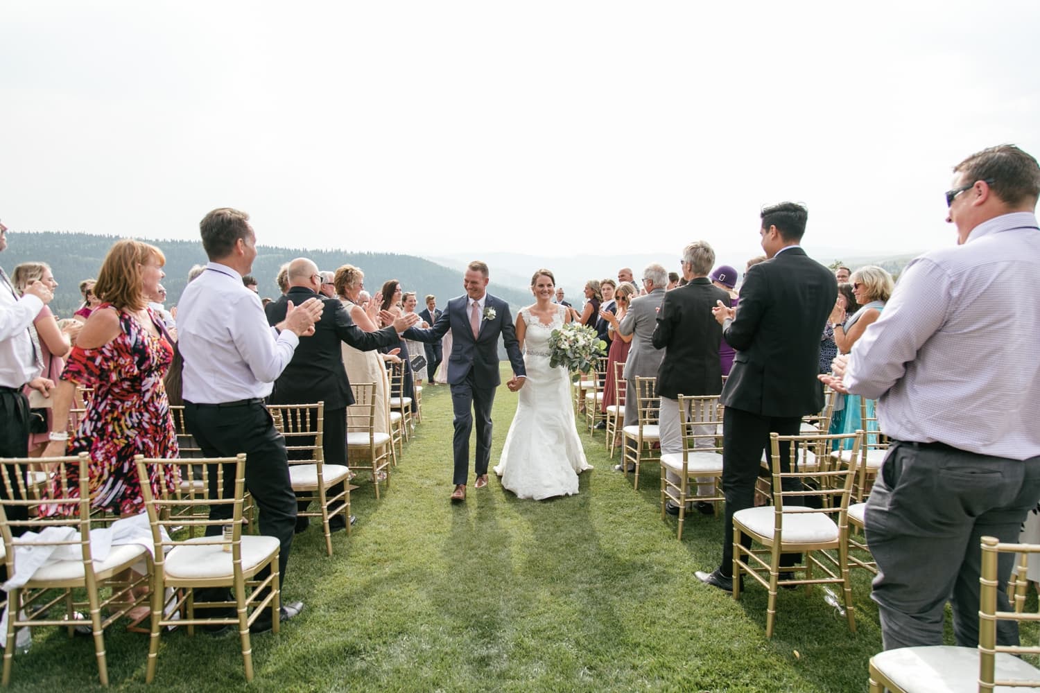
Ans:
{"type": "Polygon", "coordinates": [[[549,270],[535,272],[530,290],[536,302],[517,315],[527,381],[495,468],[502,486],[517,498],[536,501],[577,494],[578,473],[592,469],[574,427],[567,369],[549,366],[549,335],[571,321],[567,309],[552,302],[554,285],[549,270]]]}

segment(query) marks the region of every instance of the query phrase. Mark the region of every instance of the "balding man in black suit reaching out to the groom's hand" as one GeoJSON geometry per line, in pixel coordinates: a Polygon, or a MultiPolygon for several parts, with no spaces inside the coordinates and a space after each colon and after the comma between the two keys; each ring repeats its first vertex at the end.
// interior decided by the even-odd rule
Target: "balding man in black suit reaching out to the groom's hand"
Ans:
{"type": "MultiPolygon", "coordinates": [[[[292,354],[292,361],[275,381],[268,402],[270,404],[308,404],[324,402],[322,451],[330,464],[346,464],[346,407],[354,404],[350,381],[343,368],[340,342],[355,349],[370,351],[397,344],[397,334],[418,321],[416,315],[402,315],[393,324],[379,331],[366,332],[350,319],[338,298],[328,298],[320,293],[323,282],[317,265],[307,258],[289,263],[289,290],[264,309],[267,322],[278,324],[285,319],[287,310],[309,298],[319,298],[323,303],[321,319],[314,325],[314,336],[303,340],[292,354]]],[[[339,492],[334,489],[333,492],[339,492]]],[[[306,528],[306,517],[297,518],[297,531],[306,528]]],[[[346,527],[342,515],[330,521],[330,528],[346,527]]]]}

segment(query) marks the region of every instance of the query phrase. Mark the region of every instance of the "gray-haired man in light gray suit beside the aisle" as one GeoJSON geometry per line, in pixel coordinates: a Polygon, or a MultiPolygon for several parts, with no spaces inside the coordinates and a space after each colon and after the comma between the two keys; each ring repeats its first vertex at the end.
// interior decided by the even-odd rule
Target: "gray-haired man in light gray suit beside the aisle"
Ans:
{"type": "MultiPolygon", "coordinates": [[[[660,367],[664,351],[653,346],[653,330],[657,326],[657,312],[665,300],[665,287],[668,286],[668,271],[657,263],[647,265],[643,270],[643,287],[647,295],[633,298],[628,313],[621,319],[618,331],[622,335],[632,335],[632,346],[625,362],[625,425],[634,426],[639,421],[639,401],[635,397],[635,378],[655,377],[660,367]]],[[[624,461],[615,465],[615,470],[624,470],[624,461]]],[[[632,468],[634,470],[634,467],[632,468]]],[[[629,470],[629,471],[632,471],[629,470]]]]}

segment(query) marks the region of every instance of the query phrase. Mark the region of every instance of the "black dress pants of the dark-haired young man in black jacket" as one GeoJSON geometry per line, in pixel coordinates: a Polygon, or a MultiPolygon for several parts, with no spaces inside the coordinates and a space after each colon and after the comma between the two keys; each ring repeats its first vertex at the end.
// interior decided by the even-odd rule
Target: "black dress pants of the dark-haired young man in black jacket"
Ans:
{"type": "MultiPolygon", "coordinates": [[[[765,417],[727,406],[723,412],[722,490],[726,497],[726,522],[723,524],[722,574],[733,571],[733,513],[755,505],[755,482],[762,463],[762,452],[770,449],[770,433],[798,435],[801,417],[765,417]]],[[[789,472],[787,446],[780,447],[781,470],[789,472]]],[[[786,503],[786,501],[785,501],[786,503]]],[[[796,505],[796,503],[790,503],[796,505]]],[[[742,535],[740,543],[751,545],[751,537],[742,535]]],[[[781,565],[794,565],[799,554],[784,554],[781,565]]]]}

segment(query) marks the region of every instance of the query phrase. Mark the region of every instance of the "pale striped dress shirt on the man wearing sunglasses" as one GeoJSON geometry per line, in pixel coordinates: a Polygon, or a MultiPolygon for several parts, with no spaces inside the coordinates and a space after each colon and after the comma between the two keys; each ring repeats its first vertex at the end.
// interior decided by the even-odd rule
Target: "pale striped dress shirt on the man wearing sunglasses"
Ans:
{"type": "Polygon", "coordinates": [[[1030,212],[911,262],[853,346],[844,384],[881,430],[983,455],[1040,455],[1040,228],[1030,212]]]}

